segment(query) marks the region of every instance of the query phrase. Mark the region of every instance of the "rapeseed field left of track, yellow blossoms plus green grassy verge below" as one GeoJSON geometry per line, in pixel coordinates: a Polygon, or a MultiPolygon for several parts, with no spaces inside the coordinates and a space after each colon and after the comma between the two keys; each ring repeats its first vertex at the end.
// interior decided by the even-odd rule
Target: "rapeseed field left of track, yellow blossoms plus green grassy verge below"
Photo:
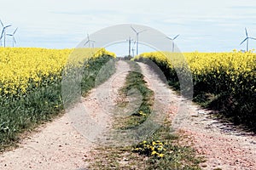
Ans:
{"type": "Polygon", "coordinates": [[[78,82],[83,94],[94,88],[98,71],[113,57],[105,48],[0,48],[0,151],[26,129],[61,113],[64,102],[74,101],[76,96],[65,100],[62,95],[65,73],[83,72],[78,82]]]}

